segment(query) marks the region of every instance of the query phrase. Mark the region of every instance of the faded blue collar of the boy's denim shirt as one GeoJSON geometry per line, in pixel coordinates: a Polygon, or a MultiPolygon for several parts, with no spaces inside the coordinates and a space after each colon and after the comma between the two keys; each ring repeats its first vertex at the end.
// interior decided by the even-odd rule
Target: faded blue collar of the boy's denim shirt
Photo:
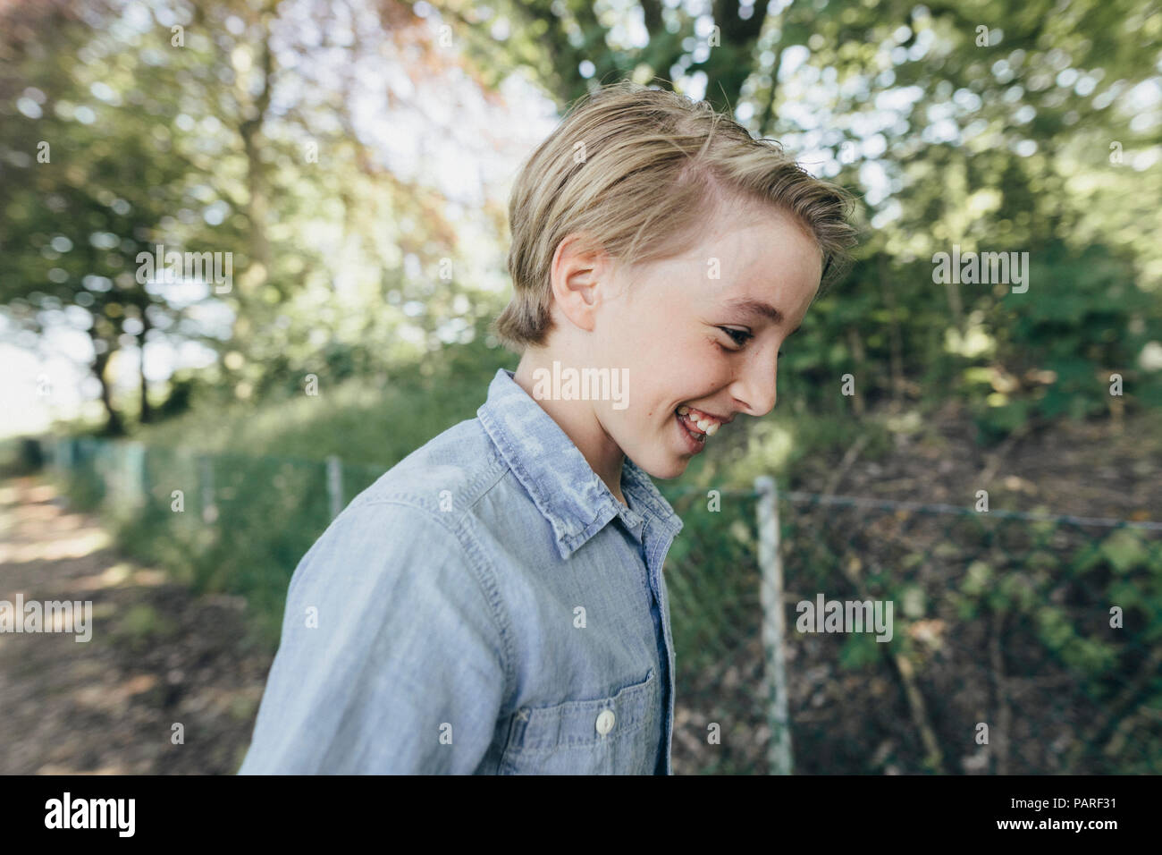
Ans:
{"type": "Polygon", "coordinates": [[[670,536],[682,530],[681,518],[629,457],[622,466],[622,492],[633,507],[618,501],[561,427],[516,383],[512,371],[497,369],[476,415],[552,523],[561,558],[618,515],[631,530],[643,521],[670,536]]]}

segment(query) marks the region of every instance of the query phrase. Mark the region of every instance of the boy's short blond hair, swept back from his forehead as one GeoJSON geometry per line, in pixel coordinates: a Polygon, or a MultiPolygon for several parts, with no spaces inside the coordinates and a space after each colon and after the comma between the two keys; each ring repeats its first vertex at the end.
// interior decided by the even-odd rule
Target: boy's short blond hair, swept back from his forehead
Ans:
{"type": "Polygon", "coordinates": [[[645,264],[676,255],[730,200],[790,214],[819,245],[824,282],[849,261],[851,197],[809,174],[774,140],[753,138],[706,101],[629,80],[581,98],[512,187],[515,293],[494,334],[517,352],[546,342],[550,270],[567,235],[580,235],[582,251],[645,264]]]}

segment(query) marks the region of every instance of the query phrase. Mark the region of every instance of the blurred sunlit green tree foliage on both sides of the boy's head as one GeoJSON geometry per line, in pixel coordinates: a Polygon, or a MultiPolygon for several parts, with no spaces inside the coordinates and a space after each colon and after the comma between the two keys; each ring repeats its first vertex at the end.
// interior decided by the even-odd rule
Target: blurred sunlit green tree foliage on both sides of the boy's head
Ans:
{"type": "MultiPolygon", "coordinates": [[[[681,80],[855,191],[856,264],[786,348],[796,419],[866,432],[881,405],[953,396],[991,443],[1162,402],[1162,16],[1128,0],[631,6],[640,45],[580,0],[9,5],[0,308],[87,332],[108,433],[234,402],[249,418],[310,377],[487,383],[507,357],[485,329],[504,295],[467,284],[485,255],[359,130],[360,71],[406,54],[413,88],[460,63],[494,100],[522,73],[560,109],[598,83],[681,80]],[[157,244],[231,252],[230,292],[137,282],[157,244]],[[953,245],[1028,252],[1028,291],[934,282],[953,245]],[[144,380],[117,399],[113,355],[153,341],[216,357],[159,400],[144,380]]],[[[385,83],[388,105],[407,88],[385,83]]],[[[502,205],[480,212],[495,265],[502,205]]]]}

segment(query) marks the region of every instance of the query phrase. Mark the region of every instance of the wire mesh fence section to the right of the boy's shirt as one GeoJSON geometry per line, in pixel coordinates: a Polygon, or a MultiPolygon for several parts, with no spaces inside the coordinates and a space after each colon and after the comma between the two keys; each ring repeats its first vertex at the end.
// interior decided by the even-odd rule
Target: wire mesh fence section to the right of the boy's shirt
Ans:
{"type": "MultiPolygon", "coordinates": [[[[705,504],[675,507],[689,527],[718,515],[705,504]]],[[[795,772],[1162,768],[1162,525],[780,493],[779,651],[763,637],[772,573],[744,527],[759,503],[730,504],[737,519],[710,527],[743,548],[700,535],[667,571],[675,771],[787,771],[772,746],[788,726],[795,772]],[[849,604],[881,606],[888,632],[845,620],[849,604]]]]}

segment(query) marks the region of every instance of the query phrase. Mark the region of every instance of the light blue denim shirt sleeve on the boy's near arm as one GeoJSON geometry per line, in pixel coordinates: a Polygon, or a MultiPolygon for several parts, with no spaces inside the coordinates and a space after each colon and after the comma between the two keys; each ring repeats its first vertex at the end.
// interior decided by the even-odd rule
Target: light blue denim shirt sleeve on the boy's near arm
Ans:
{"type": "Polygon", "coordinates": [[[292,577],[238,774],[472,774],[505,691],[485,571],[437,512],[347,507],[292,577]]]}

